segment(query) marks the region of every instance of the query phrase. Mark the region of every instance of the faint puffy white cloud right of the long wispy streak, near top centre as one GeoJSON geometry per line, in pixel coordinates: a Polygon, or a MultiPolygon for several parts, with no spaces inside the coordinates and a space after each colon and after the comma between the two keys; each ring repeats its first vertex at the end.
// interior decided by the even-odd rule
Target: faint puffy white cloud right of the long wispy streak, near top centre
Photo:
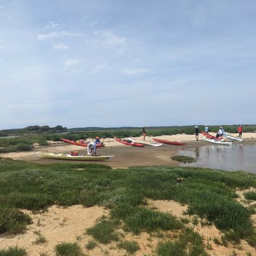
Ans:
{"type": "Polygon", "coordinates": [[[94,31],[96,36],[99,36],[100,42],[102,45],[106,46],[115,46],[115,45],[124,45],[126,38],[118,36],[112,31],[94,31]]]}

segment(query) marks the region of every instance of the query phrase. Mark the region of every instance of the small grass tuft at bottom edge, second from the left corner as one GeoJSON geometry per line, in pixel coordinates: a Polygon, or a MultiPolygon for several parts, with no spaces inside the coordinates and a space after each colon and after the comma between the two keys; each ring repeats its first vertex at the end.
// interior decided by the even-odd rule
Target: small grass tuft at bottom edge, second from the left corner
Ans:
{"type": "Polygon", "coordinates": [[[61,242],[54,247],[56,256],[84,256],[81,247],[77,243],[61,242]]]}

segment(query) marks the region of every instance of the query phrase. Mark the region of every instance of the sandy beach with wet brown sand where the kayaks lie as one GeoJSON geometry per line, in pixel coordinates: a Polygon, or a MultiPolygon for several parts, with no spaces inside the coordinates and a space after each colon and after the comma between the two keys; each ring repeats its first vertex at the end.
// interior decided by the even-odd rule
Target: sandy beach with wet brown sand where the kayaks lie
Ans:
{"type": "MultiPolygon", "coordinates": [[[[212,133],[213,134],[213,133],[212,133]]],[[[237,136],[237,134],[232,134],[237,136]]],[[[106,145],[104,148],[97,150],[97,154],[101,156],[115,156],[114,159],[108,161],[99,162],[82,162],[81,163],[104,163],[108,164],[112,168],[126,168],[131,166],[153,166],[153,165],[177,165],[176,161],[172,161],[171,157],[177,154],[177,150],[182,148],[196,147],[198,145],[208,145],[207,142],[202,140],[202,134],[199,136],[199,141],[195,140],[195,135],[188,134],[175,134],[175,135],[163,135],[155,136],[154,138],[159,138],[162,140],[170,141],[181,141],[187,143],[184,146],[166,145],[163,144],[161,147],[145,146],[144,148],[131,147],[119,143],[113,138],[102,139],[101,141],[106,145]]],[[[141,137],[134,138],[136,140],[142,140],[141,137]]],[[[256,140],[256,133],[244,133],[242,143],[252,143],[256,140]]],[[[88,140],[90,141],[90,140],[88,140]]],[[[91,140],[92,141],[92,140],[91,140]]],[[[147,142],[155,143],[153,137],[147,137],[147,142]]],[[[228,141],[225,138],[225,141],[228,141]]],[[[48,146],[34,145],[33,151],[29,152],[12,152],[1,154],[1,157],[10,157],[15,160],[31,161],[34,163],[72,163],[72,161],[65,160],[51,160],[51,159],[41,159],[38,156],[40,152],[50,152],[50,153],[68,153],[71,151],[79,152],[79,155],[87,154],[86,147],[79,147],[76,145],[70,145],[62,141],[49,141],[48,146]]],[[[74,162],[74,161],[73,161],[74,162]]],[[[79,163],[80,161],[75,161],[79,163]]]]}

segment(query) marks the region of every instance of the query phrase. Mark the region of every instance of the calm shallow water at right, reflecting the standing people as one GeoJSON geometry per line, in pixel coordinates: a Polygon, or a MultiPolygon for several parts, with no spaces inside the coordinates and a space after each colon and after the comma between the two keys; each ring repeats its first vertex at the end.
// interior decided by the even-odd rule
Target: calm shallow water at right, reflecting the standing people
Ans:
{"type": "Polygon", "coordinates": [[[180,149],[177,155],[195,157],[196,163],[180,164],[228,171],[244,170],[256,173],[256,143],[233,145],[202,145],[180,149]]]}

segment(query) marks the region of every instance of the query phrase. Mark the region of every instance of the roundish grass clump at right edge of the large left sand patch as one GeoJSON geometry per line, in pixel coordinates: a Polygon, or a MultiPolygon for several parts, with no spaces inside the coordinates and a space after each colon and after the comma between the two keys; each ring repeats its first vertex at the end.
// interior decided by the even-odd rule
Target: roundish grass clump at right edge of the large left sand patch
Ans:
{"type": "Polygon", "coordinates": [[[93,227],[87,228],[86,234],[102,244],[108,244],[111,241],[118,241],[118,233],[115,232],[115,223],[109,220],[102,220],[96,223],[93,227]]]}

